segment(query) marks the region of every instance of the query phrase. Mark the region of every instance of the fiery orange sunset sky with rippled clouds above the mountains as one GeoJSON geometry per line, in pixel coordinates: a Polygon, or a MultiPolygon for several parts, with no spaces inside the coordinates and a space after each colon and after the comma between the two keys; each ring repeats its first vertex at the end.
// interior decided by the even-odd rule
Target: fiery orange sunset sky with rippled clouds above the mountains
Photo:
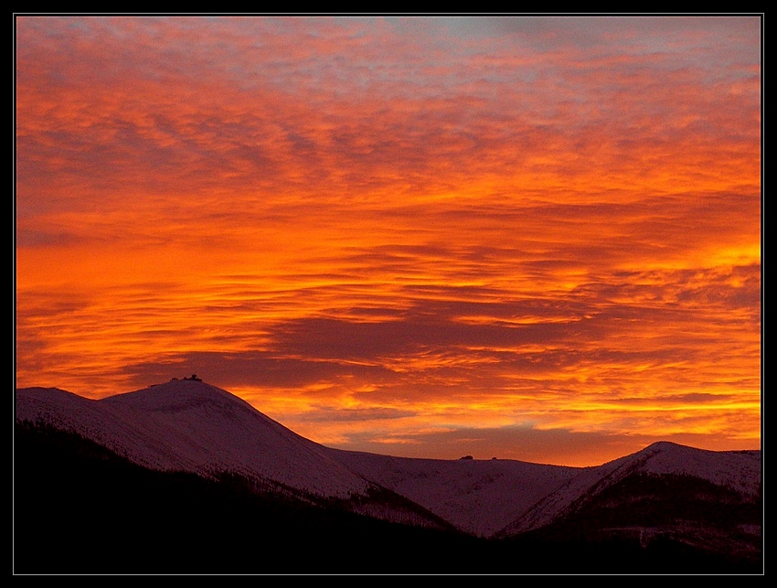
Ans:
{"type": "Polygon", "coordinates": [[[16,15],[16,387],[341,449],[761,446],[761,16],[16,15]]]}

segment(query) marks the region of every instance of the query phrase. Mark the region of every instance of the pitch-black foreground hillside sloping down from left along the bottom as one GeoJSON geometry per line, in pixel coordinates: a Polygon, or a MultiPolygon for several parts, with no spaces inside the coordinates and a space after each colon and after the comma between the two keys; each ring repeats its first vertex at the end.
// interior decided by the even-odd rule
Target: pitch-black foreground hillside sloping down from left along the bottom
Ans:
{"type": "Polygon", "coordinates": [[[510,540],[412,528],[133,465],[47,426],[16,425],[16,574],[760,573],[685,543],[572,533],[510,540]]]}

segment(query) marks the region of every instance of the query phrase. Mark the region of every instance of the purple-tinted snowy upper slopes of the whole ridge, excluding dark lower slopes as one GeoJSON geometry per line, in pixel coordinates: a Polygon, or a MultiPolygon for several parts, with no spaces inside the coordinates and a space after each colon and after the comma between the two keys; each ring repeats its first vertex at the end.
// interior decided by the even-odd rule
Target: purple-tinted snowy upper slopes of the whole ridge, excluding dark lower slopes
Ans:
{"type": "MultiPolygon", "coordinates": [[[[710,452],[663,442],[584,468],[343,451],[305,439],[200,380],[172,380],[100,401],[58,389],[16,390],[16,419],[75,431],[154,469],[205,475],[229,470],[319,497],[388,489],[484,537],[546,525],[635,472],[697,476],[744,497],[761,489],[760,451],[710,452]]],[[[389,506],[381,516],[408,512],[389,506]]],[[[431,520],[422,512],[420,519],[431,520]]]]}

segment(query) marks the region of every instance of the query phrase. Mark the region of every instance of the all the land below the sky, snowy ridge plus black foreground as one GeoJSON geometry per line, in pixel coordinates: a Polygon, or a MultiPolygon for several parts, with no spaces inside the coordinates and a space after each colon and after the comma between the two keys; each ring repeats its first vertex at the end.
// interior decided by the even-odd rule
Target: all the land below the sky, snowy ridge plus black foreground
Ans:
{"type": "MultiPolygon", "coordinates": [[[[129,572],[148,566],[152,572],[169,572],[176,565],[175,572],[192,572],[191,566],[212,571],[205,561],[228,573],[762,571],[760,450],[713,452],[661,442],[591,467],[343,451],[305,439],[248,402],[198,379],[171,380],[99,401],[59,389],[18,389],[16,423],[15,561],[22,573],[89,572],[94,565],[107,566],[113,561],[109,554],[116,551],[106,551],[86,521],[112,537],[117,550],[121,545],[119,551],[133,553],[131,562],[114,562],[129,572]],[[111,465],[111,475],[97,476],[108,463],[122,466],[111,465]],[[164,483],[154,481],[165,488],[173,484],[172,476],[178,476],[176,484],[186,480],[180,482],[183,486],[174,485],[179,488],[176,498],[164,512],[158,512],[153,493],[146,494],[149,476],[166,476],[164,483]],[[99,491],[107,479],[115,485],[99,491]],[[224,495],[238,486],[239,499],[224,495]],[[194,512],[177,512],[203,487],[212,499],[201,501],[194,512]],[[134,493],[126,495],[127,488],[134,493]],[[106,503],[105,493],[133,504],[136,515],[124,520],[126,527],[143,519],[144,529],[156,529],[157,537],[165,517],[176,512],[177,524],[163,528],[167,533],[176,529],[178,547],[206,528],[230,539],[203,553],[198,551],[200,541],[187,550],[190,557],[178,551],[165,559],[154,551],[153,558],[144,559],[137,545],[148,538],[127,543],[127,535],[118,530],[126,509],[106,503]],[[65,495],[70,505],[79,505],[80,518],[62,503],[65,495]],[[96,512],[98,504],[102,515],[96,512]],[[235,512],[236,504],[245,507],[235,512]],[[229,517],[216,517],[216,508],[227,509],[229,517]],[[237,531],[241,512],[247,519],[248,513],[261,513],[255,516],[265,522],[274,517],[275,536],[291,537],[288,533],[296,529],[296,539],[288,545],[273,541],[262,534],[261,523],[237,531]],[[293,515],[284,519],[281,512],[293,515]],[[302,519],[301,512],[306,513],[302,519]],[[111,519],[115,524],[105,527],[111,519]],[[188,539],[182,537],[181,529],[197,519],[218,523],[203,523],[188,539]],[[56,532],[51,529],[55,526],[56,532]],[[63,526],[87,543],[82,551],[72,545],[64,549],[66,540],[52,539],[63,526]],[[53,542],[41,540],[41,534],[53,542]],[[243,539],[233,543],[238,536],[243,539]],[[306,543],[319,536],[315,546],[306,543]],[[339,538],[339,547],[327,537],[339,538]],[[257,556],[268,545],[279,550],[286,545],[274,560],[283,569],[273,568],[272,561],[251,567],[250,557],[230,567],[230,554],[243,553],[252,544],[257,556]],[[299,559],[290,560],[303,544],[307,555],[301,552],[299,559]],[[368,550],[370,544],[376,549],[368,550]],[[43,545],[49,545],[48,560],[39,557],[43,545]],[[76,555],[89,553],[90,545],[101,554],[91,568],[76,555]],[[383,558],[378,545],[386,551],[383,558]],[[392,550],[410,546],[418,549],[392,560],[392,550]],[[352,558],[349,552],[362,555],[352,558]],[[292,563],[284,568],[281,561],[292,563]]],[[[159,490],[158,496],[168,496],[165,492],[159,490]]]]}

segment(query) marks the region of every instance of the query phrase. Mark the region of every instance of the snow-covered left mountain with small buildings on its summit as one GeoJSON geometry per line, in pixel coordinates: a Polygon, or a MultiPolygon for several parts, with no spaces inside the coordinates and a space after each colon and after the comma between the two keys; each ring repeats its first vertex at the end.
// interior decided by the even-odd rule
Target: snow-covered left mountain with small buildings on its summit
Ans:
{"type": "Polygon", "coordinates": [[[326,497],[348,497],[369,486],[322,445],[198,380],[172,380],[100,401],[57,389],[17,390],[16,419],[38,418],[154,469],[229,470],[326,497]]]}

